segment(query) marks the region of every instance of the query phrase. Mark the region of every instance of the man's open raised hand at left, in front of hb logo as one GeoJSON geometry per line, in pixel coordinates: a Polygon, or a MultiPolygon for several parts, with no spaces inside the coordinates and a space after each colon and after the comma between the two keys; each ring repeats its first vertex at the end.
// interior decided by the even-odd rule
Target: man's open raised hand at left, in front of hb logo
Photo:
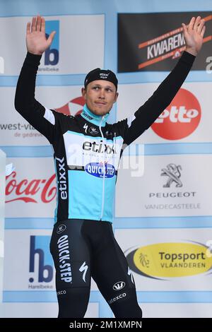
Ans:
{"type": "Polygon", "coordinates": [[[52,31],[48,37],[45,35],[45,18],[37,15],[32,23],[28,22],[26,31],[26,45],[28,52],[41,55],[52,44],[56,31],[52,31]]]}

